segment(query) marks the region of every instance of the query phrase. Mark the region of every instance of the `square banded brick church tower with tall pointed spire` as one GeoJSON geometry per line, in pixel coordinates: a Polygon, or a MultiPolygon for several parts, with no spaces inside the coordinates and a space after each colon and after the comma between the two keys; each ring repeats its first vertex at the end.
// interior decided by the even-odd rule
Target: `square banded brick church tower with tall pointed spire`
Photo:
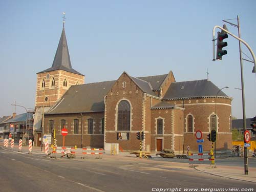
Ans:
{"type": "Polygon", "coordinates": [[[63,18],[63,29],[52,67],[37,73],[36,109],[53,106],[71,86],[84,83],[84,75],[71,66],[65,34],[65,15],[63,18]]]}

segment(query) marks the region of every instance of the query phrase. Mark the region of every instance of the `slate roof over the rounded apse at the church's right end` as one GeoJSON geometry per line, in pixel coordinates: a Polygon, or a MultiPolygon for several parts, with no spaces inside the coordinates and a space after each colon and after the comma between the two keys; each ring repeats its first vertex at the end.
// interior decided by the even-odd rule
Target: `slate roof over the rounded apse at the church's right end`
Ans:
{"type": "MultiPolygon", "coordinates": [[[[215,97],[220,89],[210,80],[195,80],[172,82],[163,99],[172,100],[180,98],[215,97]]],[[[220,91],[218,97],[228,97],[220,91]]],[[[228,97],[231,99],[231,97],[228,97]]]]}

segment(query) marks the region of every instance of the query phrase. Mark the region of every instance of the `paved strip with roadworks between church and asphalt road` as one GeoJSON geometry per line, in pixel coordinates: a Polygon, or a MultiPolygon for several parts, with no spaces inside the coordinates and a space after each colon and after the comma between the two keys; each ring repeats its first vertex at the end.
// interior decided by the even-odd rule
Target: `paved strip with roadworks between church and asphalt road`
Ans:
{"type": "MultiPolygon", "coordinates": [[[[0,143],[0,146],[5,149],[5,150],[12,150],[12,151],[19,151],[18,149],[18,145],[15,144],[13,148],[9,147],[4,147],[3,143],[0,143]]],[[[41,147],[32,147],[31,152],[29,152],[29,147],[28,146],[22,146],[22,150],[20,151],[22,153],[28,154],[28,155],[40,155],[40,156],[45,156],[45,151],[44,151],[44,147],[42,147],[42,152],[41,152],[41,147]]],[[[50,150],[51,152],[51,150],[50,150]]],[[[174,162],[172,161],[173,159],[162,159],[159,156],[155,156],[155,154],[152,156],[152,158],[136,158],[135,155],[130,154],[129,152],[119,152],[119,154],[116,155],[110,155],[110,154],[104,154],[102,156],[99,156],[98,154],[95,155],[86,155],[84,156],[84,154],[82,154],[83,150],[82,148],[77,148],[75,150],[75,158],[74,160],[79,160],[82,161],[84,159],[82,158],[86,158],[86,159],[95,159],[95,158],[102,158],[106,161],[110,160],[110,161],[118,161],[118,160],[131,160],[131,161],[136,161],[136,162],[141,162],[141,163],[146,163],[146,162],[152,162],[154,160],[162,160],[162,162],[165,165],[168,165],[168,163],[170,164],[170,166],[172,167],[182,167],[183,169],[186,170],[198,170],[199,172],[203,172],[203,173],[207,173],[210,175],[214,175],[214,176],[219,176],[219,177],[224,177],[224,178],[229,178],[229,179],[235,179],[235,180],[241,180],[241,181],[247,181],[247,182],[253,182],[256,183],[256,167],[250,167],[250,163],[249,163],[249,172],[248,175],[244,174],[244,167],[243,166],[233,166],[232,162],[230,162],[230,166],[229,165],[218,165],[218,163],[216,164],[216,168],[211,168],[210,167],[210,162],[208,164],[195,164],[195,167],[189,167],[188,165],[188,160],[186,161],[185,159],[183,160],[183,162],[174,162]]],[[[56,157],[60,158],[61,154],[57,154],[56,157]]],[[[47,156],[48,158],[50,158],[50,156],[47,156]]],[[[67,158],[67,157],[62,157],[62,158],[67,158]]],[[[231,158],[230,158],[231,159],[231,158]]],[[[251,160],[255,160],[256,158],[250,158],[251,160]]],[[[243,160],[243,158],[241,157],[241,161],[243,160]]],[[[218,159],[217,159],[218,161],[218,159]]],[[[143,167],[142,167],[143,168],[143,167]]]]}

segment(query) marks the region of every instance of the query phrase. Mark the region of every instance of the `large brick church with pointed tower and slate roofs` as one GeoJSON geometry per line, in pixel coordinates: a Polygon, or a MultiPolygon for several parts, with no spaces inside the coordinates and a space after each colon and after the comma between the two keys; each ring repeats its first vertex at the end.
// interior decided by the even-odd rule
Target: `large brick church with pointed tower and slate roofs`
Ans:
{"type": "Polygon", "coordinates": [[[123,72],[114,81],[84,83],[84,75],[72,69],[63,28],[52,67],[37,73],[35,107],[38,112],[47,108],[42,127],[34,130],[38,143],[40,134],[56,129],[61,145],[65,126],[66,146],[104,148],[118,143],[133,151],[140,146],[136,133],[143,131],[144,151],[168,148],[184,153],[187,146],[197,151],[198,130],[204,151],[209,151],[207,135],[216,129],[217,150],[231,148],[232,98],[210,80],[176,82],[172,71],[131,75],[123,72]]]}

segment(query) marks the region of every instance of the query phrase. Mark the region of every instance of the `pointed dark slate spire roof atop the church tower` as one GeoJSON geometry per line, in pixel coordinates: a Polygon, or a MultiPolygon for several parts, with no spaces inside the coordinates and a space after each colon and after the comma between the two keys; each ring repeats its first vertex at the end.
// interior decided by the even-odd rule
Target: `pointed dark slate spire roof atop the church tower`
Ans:
{"type": "Polygon", "coordinates": [[[67,38],[66,38],[66,33],[64,28],[62,29],[62,33],[59,39],[59,44],[58,44],[58,48],[52,63],[52,67],[38,73],[50,72],[55,70],[63,70],[63,71],[75,73],[78,75],[83,75],[77,72],[76,70],[74,70],[71,66],[69,48],[68,48],[68,43],[67,43],[67,38]]]}

